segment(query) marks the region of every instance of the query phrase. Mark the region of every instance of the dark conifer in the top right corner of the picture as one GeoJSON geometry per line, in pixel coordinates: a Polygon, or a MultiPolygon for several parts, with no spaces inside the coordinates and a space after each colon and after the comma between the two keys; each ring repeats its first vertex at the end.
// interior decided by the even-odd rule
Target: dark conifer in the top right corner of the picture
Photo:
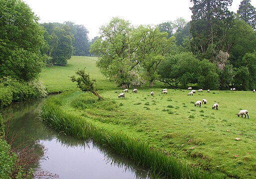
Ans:
{"type": "Polygon", "coordinates": [[[256,10],[250,3],[250,0],[242,0],[237,10],[240,19],[248,23],[256,30],[256,10]]]}

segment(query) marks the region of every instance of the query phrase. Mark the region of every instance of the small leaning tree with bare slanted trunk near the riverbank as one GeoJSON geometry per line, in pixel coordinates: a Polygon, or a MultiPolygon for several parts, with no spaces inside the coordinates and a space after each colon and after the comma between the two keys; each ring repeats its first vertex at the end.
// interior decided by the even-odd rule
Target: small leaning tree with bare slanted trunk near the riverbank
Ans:
{"type": "Polygon", "coordinates": [[[83,69],[77,69],[75,74],[78,75],[78,77],[75,77],[74,75],[70,76],[70,79],[72,82],[76,82],[76,86],[81,89],[83,92],[89,92],[93,93],[95,96],[97,96],[99,99],[103,99],[98,92],[95,89],[95,79],[90,79],[89,74],[85,73],[85,68],[83,69]]]}

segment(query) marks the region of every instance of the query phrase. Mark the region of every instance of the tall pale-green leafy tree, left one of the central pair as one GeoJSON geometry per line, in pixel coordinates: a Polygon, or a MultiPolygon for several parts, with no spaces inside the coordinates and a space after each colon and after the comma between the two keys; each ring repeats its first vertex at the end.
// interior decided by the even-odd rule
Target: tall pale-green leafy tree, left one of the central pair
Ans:
{"type": "Polygon", "coordinates": [[[130,46],[132,27],[128,21],[114,17],[100,27],[100,37],[90,46],[90,52],[98,55],[96,65],[109,79],[126,88],[129,72],[138,64],[130,46]]]}

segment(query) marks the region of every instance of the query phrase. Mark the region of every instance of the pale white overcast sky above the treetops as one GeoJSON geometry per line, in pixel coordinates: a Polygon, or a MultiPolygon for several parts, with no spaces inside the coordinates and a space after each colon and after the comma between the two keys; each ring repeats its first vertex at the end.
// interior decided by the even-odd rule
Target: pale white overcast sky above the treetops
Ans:
{"type": "MultiPolygon", "coordinates": [[[[191,19],[190,0],[23,0],[40,18],[39,22],[71,21],[83,25],[89,39],[98,35],[100,26],[120,17],[132,25],[157,25],[182,17],[191,19]]],[[[233,0],[236,12],[241,0],[233,0]]],[[[256,0],[251,0],[256,7],[256,0]]]]}

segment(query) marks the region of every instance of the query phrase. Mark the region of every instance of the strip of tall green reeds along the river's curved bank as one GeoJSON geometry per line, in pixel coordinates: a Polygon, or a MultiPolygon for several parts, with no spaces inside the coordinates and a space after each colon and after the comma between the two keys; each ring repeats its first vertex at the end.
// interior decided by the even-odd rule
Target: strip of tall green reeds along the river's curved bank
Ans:
{"type": "Polygon", "coordinates": [[[109,147],[114,152],[147,166],[152,173],[171,178],[217,178],[207,172],[178,162],[175,158],[150,148],[145,142],[137,141],[124,132],[110,132],[88,122],[85,117],[63,110],[56,97],[48,98],[41,106],[43,121],[56,130],[79,138],[91,138],[94,142],[109,147]]]}

